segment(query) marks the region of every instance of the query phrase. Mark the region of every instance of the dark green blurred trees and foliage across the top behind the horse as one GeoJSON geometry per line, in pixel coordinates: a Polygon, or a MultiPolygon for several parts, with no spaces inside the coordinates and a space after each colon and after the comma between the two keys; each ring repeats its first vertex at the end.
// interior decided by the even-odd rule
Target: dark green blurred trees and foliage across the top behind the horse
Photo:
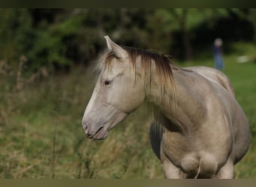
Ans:
{"type": "Polygon", "coordinates": [[[123,45],[192,58],[211,45],[216,35],[252,38],[253,12],[235,8],[0,9],[0,60],[18,67],[19,57],[25,55],[31,72],[88,64],[106,48],[106,34],[123,45]],[[229,34],[225,22],[216,28],[220,20],[236,23],[236,31],[229,34]],[[198,40],[204,41],[200,49],[198,40]]]}

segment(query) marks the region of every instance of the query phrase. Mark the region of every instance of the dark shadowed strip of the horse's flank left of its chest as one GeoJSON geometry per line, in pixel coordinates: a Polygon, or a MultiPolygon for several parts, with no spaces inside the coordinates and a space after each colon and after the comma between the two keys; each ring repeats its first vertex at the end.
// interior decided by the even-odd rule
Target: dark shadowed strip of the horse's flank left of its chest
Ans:
{"type": "Polygon", "coordinates": [[[160,159],[162,133],[164,132],[163,128],[164,127],[156,120],[153,120],[150,124],[150,144],[158,159],[160,159]]]}

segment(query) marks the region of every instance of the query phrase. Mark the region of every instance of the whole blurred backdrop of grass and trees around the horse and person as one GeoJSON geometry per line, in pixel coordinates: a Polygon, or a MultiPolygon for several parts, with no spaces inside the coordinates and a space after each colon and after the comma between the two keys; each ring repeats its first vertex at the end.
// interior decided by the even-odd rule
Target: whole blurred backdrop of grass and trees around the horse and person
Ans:
{"type": "Polygon", "coordinates": [[[220,38],[222,71],[252,132],[236,177],[256,177],[256,9],[0,9],[0,23],[0,178],[163,177],[146,106],[106,140],[85,138],[82,115],[106,34],[180,67],[215,67],[220,38]]]}

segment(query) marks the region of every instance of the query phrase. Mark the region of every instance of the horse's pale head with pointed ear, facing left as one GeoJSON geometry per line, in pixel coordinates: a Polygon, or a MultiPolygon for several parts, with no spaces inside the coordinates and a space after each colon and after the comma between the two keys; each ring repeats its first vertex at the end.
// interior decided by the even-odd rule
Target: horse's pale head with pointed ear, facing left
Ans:
{"type": "Polygon", "coordinates": [[[108,36],[111,50],[85,109],[82,127],[88,138],[107,138],[108,132],[144,101],[144,86],[135,82],[129,54],[108,36]],[[111,57],[111,58],[110,58],[111,57]]]}

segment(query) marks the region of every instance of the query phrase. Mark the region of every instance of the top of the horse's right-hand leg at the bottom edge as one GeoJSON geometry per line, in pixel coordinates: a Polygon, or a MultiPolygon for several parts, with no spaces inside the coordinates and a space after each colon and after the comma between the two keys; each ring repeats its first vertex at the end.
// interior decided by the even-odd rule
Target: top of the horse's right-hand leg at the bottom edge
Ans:
{"type": "Polygon", "coordinates": [[[216,178],[217,179],[234,179],[234,162],[232,162],[231,159],[228,159],[225,165],[223,165],[222,168],[219,169],[216,175],[216,178]]]}

